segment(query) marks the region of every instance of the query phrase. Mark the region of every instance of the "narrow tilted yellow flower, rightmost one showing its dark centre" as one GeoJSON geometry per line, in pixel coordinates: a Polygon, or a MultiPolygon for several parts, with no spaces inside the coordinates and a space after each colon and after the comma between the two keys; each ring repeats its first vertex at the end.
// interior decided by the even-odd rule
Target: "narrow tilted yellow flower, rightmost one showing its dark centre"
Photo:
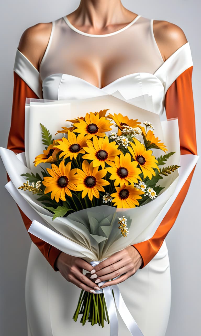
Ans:
{"type": "Polygon", "coordinates": [[[155,176],[155,171],[153,168],[156,168],[159,171],[159,168],[156,163],[155,156],[152,155],[152,151],[147,151],[146,148],[140,141],[133,138],[133,142],[130,142],[131,147],[128,147],[129,152],[131,153],[132,157],[136,162],[139,164],[144,178],[148,176],[149,179],[152,178],[152,175],[155,176]]]}

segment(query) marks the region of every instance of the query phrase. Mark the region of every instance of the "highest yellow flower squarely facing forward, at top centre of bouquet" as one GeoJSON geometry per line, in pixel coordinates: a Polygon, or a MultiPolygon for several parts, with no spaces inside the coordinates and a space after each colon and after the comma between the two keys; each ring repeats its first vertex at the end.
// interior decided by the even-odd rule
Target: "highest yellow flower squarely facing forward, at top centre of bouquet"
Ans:
{"type": "Polygon", "coordinates": [[[78,119],[77,123],[74,123],[73,126],[76,129],[73,130],[75,133],[81,133],[82,135],[88,134],[90,139],[94,136],[104,137],[105,132],[110,131],[112,124],[110,120],[107,120],[105,117],[99,117],[99,114],[96,115],[92,112],[86,114],[85,121],[78,119]]]}

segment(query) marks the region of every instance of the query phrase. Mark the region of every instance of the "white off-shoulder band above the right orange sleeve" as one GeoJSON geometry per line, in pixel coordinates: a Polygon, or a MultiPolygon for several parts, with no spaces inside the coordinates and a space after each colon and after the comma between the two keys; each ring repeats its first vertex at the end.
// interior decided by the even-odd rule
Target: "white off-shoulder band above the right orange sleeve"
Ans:
{"type": "Polygon", "coordinates": [[[193,66],[189,42],[177,49],[154,73],[164,86],[164,95],[172,83],[188,68],[193,66]]]}

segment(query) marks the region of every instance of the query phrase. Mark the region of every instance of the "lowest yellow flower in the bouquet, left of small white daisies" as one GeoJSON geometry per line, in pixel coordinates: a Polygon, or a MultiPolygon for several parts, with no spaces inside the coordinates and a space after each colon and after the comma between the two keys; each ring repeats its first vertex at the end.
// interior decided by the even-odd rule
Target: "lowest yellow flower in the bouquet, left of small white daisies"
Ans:
{"type": "Polygon", "coordinates": [[[116,193],[113,193],[111,196],[114,197],[112,202],[114,202],[117,208],[135,208],[136,205],[139,205],[137,200],[141,199],[140,195],[143,195],[144,192],[135,188],[133,184],[125,185],[121,187],[116,187],[116,193]]]}

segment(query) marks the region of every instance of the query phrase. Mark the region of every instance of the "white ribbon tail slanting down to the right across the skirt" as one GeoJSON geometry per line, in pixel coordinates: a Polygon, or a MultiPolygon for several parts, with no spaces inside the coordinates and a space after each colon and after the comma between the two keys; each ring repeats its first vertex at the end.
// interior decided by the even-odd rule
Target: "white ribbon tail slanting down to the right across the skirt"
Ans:
{"type": "MultiPolygon", "coordinates": [[[[128,310],[123,297],[120,293],[120,290],[117,285],[111,286],[115,296],[115,303],[117,309],[121,315],[122,320],[124,321],[126,327],[130,331],[132,336],[143,336],[140,328],[138,327],[137,323],[135,322],[134,318],[132,317],[130,311],[128,310]]],[[[107,288],[107,287],[106,287],[107,288]]],[[[105,290],[105,288],[104,288],[105,290]]],[[[118,335],[118,334],[116,334],[118,335]]]]}

